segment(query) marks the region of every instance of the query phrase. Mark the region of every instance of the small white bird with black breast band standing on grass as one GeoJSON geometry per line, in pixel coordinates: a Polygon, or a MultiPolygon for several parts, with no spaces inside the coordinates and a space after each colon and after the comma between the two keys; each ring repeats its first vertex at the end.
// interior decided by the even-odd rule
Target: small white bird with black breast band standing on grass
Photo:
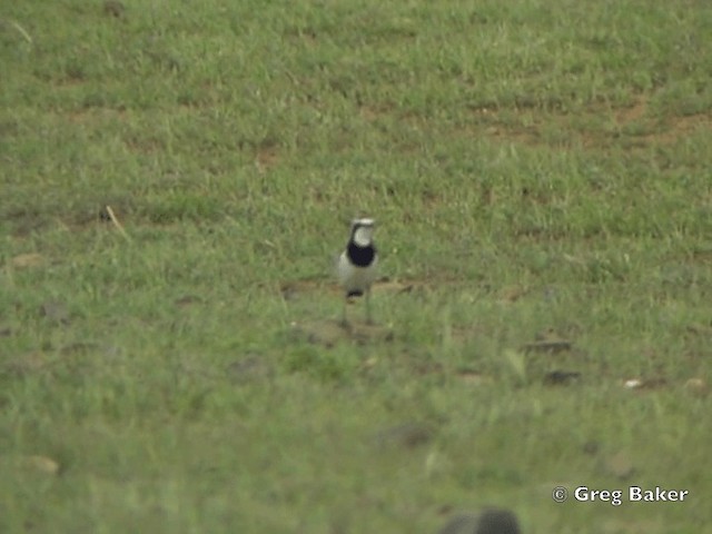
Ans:
{"type": "Polygon", "coordinates": [[[366,322],[372,324],[370,317],[370,286],[375,281],[378,266],[378,254],[374,244],[375,221],[370,218],[357,218],[352,221],[352,231],[346,248],[338,257],[336,274],[338,283],[345,291],[344,315],[346,320],[346,305],[352,297],[365,296],[366,322]]]}

